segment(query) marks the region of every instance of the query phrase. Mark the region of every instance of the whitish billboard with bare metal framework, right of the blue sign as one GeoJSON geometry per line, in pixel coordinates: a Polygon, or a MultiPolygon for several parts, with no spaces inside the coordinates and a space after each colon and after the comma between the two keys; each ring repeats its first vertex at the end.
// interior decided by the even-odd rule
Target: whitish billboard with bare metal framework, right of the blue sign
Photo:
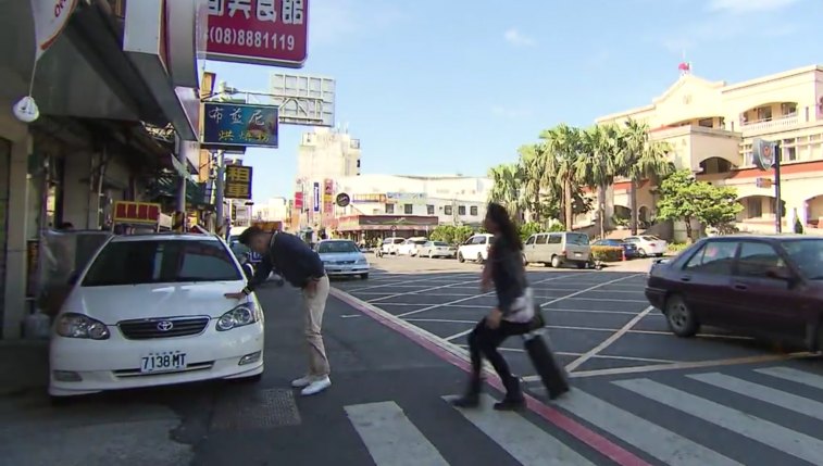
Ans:
{"type": "Polygon", "coordinates": [[[282,124],[334,126],[336,86],[328,77],[273,73],[272,104],[279,106],[282,124]]]}

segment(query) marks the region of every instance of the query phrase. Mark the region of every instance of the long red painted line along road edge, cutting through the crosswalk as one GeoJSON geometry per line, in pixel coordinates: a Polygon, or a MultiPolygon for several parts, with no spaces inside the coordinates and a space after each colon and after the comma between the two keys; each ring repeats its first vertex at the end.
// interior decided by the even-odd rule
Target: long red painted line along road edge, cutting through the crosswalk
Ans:
{"type": "MultiPolygon", "coordinates": [[[[413,330],[407,327],[403,327],[402,325],[399,325],[397,322],[374,312],[359,299],[334,288],[332,289],[332,294],[335,298],[339,299],[340,301],[344,301],[346,304],[349,304],[350,306],[359,310],[363,314],[373,318],[374,320],[377,320],[378,323],[397,331],[398,333],[402,335],[403,337],[408,338],[414,343],[425,348],[437,357],[465,371],[471,370],[471,363],[466,361],[464,357],[460,357],[457,354],[442,349],[440,345],[429,340],[428,338],[422,335],[419,335],[414,332],[413,330]]],[[[498,378],[497,376],[486,377],[486,381],[494,388],[500,391],[504,391],[502,382],[500,381],[500,378],[498,378]]],[[[549,423],[553,424],[559,429],[575,437],[577,440],[587,444],[588,446],[590,446],[591,449],[594,449],[601,455],[608,457],[612,462],[616,463],[618,465],[620,466],[652,466],[650,463],[644,461],[643,458],[635,455],[634,453],[627,451],[626,449],[618,445],[616,443],[612,442],[606,437],[595,432],[588,427],[572,419],[571,417],[566,416],[560,411],[551,406],[548,406],[547,404],[540,402],[536,398],[529,394],[525,394],[525,398],[526,398],[526,406],[528,407],[529,411],[543,417],[544,419],[548,420],[549,423]]]]}

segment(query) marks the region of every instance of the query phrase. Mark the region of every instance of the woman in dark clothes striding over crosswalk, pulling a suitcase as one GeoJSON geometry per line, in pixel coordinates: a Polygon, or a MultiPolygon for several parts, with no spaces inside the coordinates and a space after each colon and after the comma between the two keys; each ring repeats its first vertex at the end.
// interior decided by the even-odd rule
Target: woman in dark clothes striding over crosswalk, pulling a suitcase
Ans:
{"type": "Polygon", "coordinates": [[[479,405],[483,358],[485,357],[506,388],[506,398],[495,403],[495,410],[518,410],[525,403],[520,380],[511,374],[498,348],[507,338],[531,331],[535,316],[534,298],[523,266],[523,242],[506,207],[490,203],[486,210],[484,227],[495,237],[488,261],[483,268],[481,282],[484,291],[494,287],[497,293],[497,306],[469,333],[472,371],[465,394],[456,400],[454,405],[458,407],[479,405]]]}

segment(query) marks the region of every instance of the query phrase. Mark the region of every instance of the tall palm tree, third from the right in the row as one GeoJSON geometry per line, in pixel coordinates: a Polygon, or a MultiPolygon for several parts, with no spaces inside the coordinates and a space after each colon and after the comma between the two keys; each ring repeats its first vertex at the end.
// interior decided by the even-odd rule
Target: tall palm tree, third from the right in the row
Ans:
{"type": "Polygon", "coordinates": [[[540,134],[546,141],[547,155],[543,171],[545,186],[557,185],[562,191],[561,211],[564,213],[563,225],[566,229],[574,227],[574,197],[577,188],[576,161],[581,155],[581,130],[561,124],[540,134]]]}

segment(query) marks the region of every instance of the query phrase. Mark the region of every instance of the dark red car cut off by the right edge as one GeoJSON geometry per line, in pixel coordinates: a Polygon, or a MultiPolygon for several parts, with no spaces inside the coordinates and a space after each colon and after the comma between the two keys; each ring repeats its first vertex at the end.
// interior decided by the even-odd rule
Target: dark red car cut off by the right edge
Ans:
{"type": "Polygon", "coordinates": [[[723,236],[702,239],[649,270],[646,298],[669,328],[701,325],[823,348],[823,238],[723,236]]]}

